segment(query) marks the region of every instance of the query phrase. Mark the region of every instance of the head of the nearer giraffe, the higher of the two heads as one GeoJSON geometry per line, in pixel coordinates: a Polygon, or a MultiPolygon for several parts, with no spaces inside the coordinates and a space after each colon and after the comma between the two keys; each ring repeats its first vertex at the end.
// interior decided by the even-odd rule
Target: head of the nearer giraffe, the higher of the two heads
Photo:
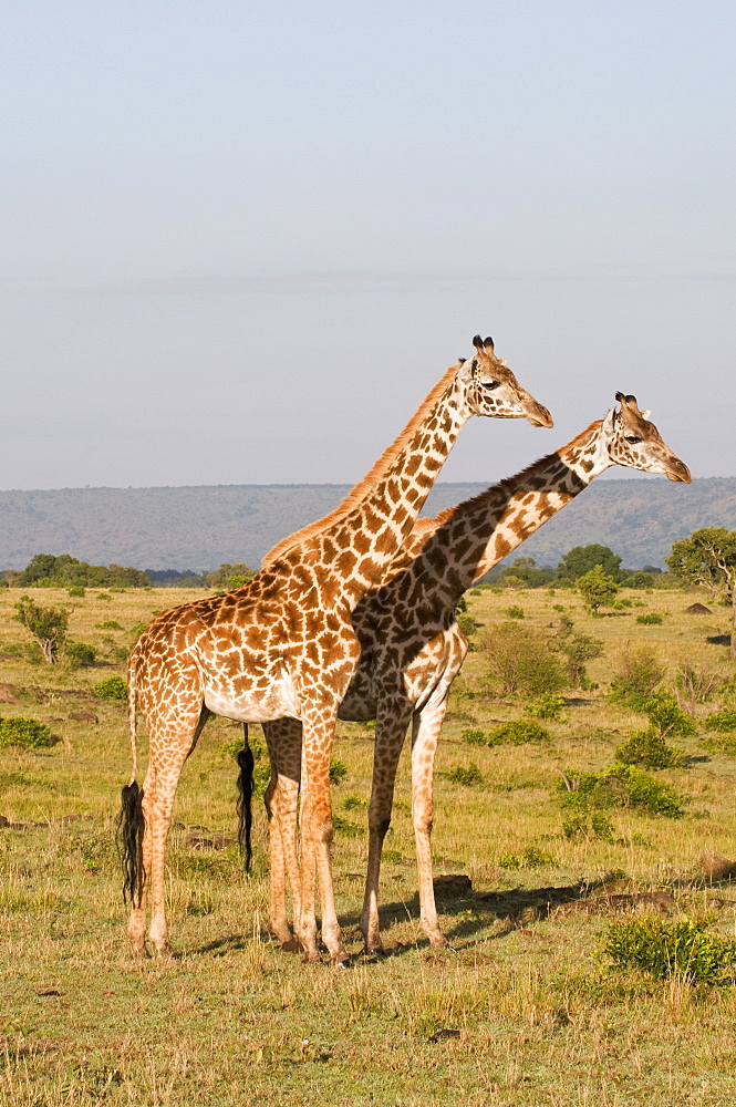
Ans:
{"type": "Polygon", "coordinates": [[[505,361],[494,353],[494,340],[473,340],[476,349],[470,361],[460,362],[458,380],[465,389],[465,404],[470,415],[495,418],[526,418],[532,426],[551,426],[552,416],[522,389],[505,361]]]}

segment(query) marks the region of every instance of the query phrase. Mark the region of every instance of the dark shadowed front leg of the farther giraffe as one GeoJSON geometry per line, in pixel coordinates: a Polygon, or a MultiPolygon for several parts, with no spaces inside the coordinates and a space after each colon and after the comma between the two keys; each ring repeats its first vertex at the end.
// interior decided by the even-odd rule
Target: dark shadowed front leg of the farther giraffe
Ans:
{"type": "Polygon", "coordinates": [[[369,860],[360,923],[367,952],[382,949],[379,918],[381,851],[391,826],[396,768],[411,714],[411,704],[407,704],[403,696],[379,700],[373,752],[373,779],[369,805],[369,860]]]}

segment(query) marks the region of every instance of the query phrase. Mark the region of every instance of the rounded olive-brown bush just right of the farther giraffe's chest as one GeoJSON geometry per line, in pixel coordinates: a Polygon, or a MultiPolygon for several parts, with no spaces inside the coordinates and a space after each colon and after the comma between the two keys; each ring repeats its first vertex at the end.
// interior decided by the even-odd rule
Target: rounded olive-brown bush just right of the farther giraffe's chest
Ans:
{"type": "Polygon", "coordinates": [[[552,652],[549,637],[533,627],[501,623],[486,634],[481,651],[504,693],[553,695],[568,685],[564,665],[552,652]]]}

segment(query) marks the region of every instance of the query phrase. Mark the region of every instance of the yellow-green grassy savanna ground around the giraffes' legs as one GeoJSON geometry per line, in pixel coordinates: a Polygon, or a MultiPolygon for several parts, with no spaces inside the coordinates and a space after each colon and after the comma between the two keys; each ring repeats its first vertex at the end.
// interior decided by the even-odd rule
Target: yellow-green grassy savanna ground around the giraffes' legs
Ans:
{"type": "MultiPolygon", "coordinates": [[[[248,881],[234,845],[200,848],[193,837],[235,830],[226,747],[239,732],[211,721],[185,768],[170,838],[168,909],[180,955],[138,966],[127,952],[114,847],[129,765],[125,711],[95,700],[91,687],[123,672],[135,624],[193,593],[33,594],[73,607],[71,637],[107,661],[77,671],[30,664],[15,649],[30,641],[12,621],[18,593],[0,592],[1,679],[18,693],[0,714],[32,715],[63,739],[38,753],[0,749],[0,815],[21,825],[0,829],[0,1107],[736,1101],[736,990],[612,972],[598,951],[615,909],[605,896],[590,912],[576,907],[581,882],[619,893],[665,890],[674,917],[711,910],[722,934],[736,933],[734,906],[724,902],[736,901],[736,891],[704,879],[714,855],[736,856],[733,758],[707,754],[702,734],[684,741],[690,766],[656,776],[685,797],[686,816],[613,811],[611,841],[566,838],[553,796],[558,768],[600,770],[644,725],[604,696],[623,645],[652,643],[671,672],[690,659],[727,673],[726,650],[705,642],[726,630],[724,609],[688,617],[694,596],[631,591],[623,594],[641,607],[591,619],[568,591],[468,598],[487,624],[516,603],[545,627],[561,604],[576,629],[605,641],[605,652],[589,666],[600,691],[568,703],[549,745],[496,748],[469,746],[460,734],[519,717],[521,705],[489,695],[483,653],[470,654],[437,766],[435,871],[473,880],[473,892],[439,904],[452,951],[429,951],[417,924],[406,758],[382,881],[390,955],[332,970],[273,945],[261,811],[248,881]],[[664,615],[661,625],[636,623],[650,611],[664,615]],[[99,723],[70,718],[81,710],[99,723]],[[443,775],[470,763],[483,774],[479,786],[443,775]],[[527,847],[548,855],[541,868],[499,866],[527,847]],[[539,892],[552,886],[560,891],[539,892]],[[550,900],[559,906],[548,909],[550,900]]],[[[348,797],[367,797],[370,732],[341,724],[334,756],[349,769],[333,789],[344,820],[334,849],[338,908],[357,954],[365,814],[348,797]]]]}

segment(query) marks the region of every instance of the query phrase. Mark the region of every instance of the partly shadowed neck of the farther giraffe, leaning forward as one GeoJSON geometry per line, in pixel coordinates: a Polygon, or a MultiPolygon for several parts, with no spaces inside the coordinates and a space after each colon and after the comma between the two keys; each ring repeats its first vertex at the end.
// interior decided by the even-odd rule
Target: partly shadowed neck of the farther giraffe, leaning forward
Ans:
{"type": "Polygon", "coordinates": [[[444,511],[406,544],[425,593],[455,603],[476,580],[538,530],[611,462],[593,423],[572,442],[479,496],[444,511]],[[434,526],[432,526],[434,524],[434,526]],[[419,548],[417,548],[419,547],[419,548]],[[417,556],[418,555],[418,556],[417,556]]]}

